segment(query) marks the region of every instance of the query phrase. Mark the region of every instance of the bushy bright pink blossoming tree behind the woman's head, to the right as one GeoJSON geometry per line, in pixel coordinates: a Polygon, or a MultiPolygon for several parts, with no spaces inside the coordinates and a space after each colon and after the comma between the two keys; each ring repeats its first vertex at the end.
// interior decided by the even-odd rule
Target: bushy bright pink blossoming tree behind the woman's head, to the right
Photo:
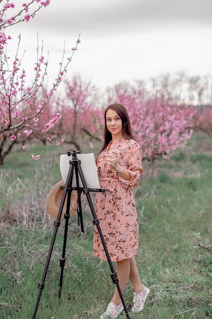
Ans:
{"type": "Polygon", "coordinates": [[[163,94],[147,94],[139,85],[120,83],[108,92],[108,100],[126,105],[143,159],[152,163],[159,157],[169,158],[193,133],[194,109],[163,94]]]}

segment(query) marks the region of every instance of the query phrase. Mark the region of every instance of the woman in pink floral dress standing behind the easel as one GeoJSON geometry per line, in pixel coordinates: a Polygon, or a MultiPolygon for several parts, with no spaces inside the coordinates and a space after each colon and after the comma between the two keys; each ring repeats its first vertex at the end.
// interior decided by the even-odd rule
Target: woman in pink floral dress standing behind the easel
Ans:
{"type": "MultiPolygon", "coordinates": [[[[111,104],[105,110],[104,142],[97,157],[102,189],[97,193],[96,214],[111,258],[117,263],[117,277],[123,292],[128,279],[134,288],[132,311],[143,309],[149,289],[142,285],[135,261],[138,251],[138,218],[132,186],[142,174],[142,149],[134,140],[127,110],[122,104],[111,104]]],[[[94,254],[107,261],[97,227],[94,232],[94,254]]],[[[115,292],[107,310],[100,318],[116,318],[124,309],[115,292]]]]}

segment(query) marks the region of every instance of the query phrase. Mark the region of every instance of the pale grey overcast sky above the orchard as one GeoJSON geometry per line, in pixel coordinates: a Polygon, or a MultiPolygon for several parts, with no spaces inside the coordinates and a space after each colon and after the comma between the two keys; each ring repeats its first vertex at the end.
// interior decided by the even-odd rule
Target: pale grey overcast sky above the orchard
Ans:
{"type": "Polygon", "coordinates": [[[64,42],[68,56],[79,34],[67,75],[79,72],[100,88],[167,72],[212,73],[212,0],[51,0],[13,27],[13,37],[19,33],[23,67],[34,68],[37,33],[44,41],[50,83],[64,42]]]}

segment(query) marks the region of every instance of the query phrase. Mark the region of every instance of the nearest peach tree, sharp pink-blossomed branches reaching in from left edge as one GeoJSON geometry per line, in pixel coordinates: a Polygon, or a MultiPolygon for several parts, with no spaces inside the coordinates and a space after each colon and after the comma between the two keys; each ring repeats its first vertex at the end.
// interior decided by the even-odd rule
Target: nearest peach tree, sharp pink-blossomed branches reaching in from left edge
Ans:
{"type": "MultiPolygon", "coordinates": [[[[46,8],[50,0],[32,0],[28,3],[9,0],[1,4],[0,10],[0,165],[16,143],[21,143],[23,150],[26,150],[25,141],[31,138],[33,132],[49,140],[50,129],[58,123],[61,118],[60,112],[49,118],[44,116],[50,100],[54,96],[59,84],[62,82],[68,65],[72,60],[76,45],[72,48],[69,57],[65,59],[65,49],[62,61],[58,63],[58,73],[49,90],[44,88],[44,80],[47,76],[48,59],[43,56],[43,47],[37,48],[37,61],[35,61],[35,77],[31,85],[25,83],[26,71],[21,66],[19,58],[19,44],[21,36],[18,37],[18,45],[15,56],[12,58],[7,52],[7,45],[13,41],[9,34],[9,27],[17,23],[30,23],[35,14],[46,8]],[[39,101],[39,103],[38,103],[39,101]],[[46,122],[41,119],[45,119],[46,122]]],[[[58,145],[63,140],[56,141],[58,145]]],[[[31,155],[38,159],[40,155],[31,155]]]]}

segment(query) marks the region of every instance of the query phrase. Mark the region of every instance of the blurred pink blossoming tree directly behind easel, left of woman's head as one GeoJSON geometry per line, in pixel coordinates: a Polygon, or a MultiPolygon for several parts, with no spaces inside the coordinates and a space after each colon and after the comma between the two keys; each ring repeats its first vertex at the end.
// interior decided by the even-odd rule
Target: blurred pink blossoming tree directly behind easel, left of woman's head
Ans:
{"type": "MultiPolygon", "coordinates": [[[[79,74],[71,80],[66,79],[65,96],[57,99],[57,110],[62,113],[62,119],[52,129],[52,134],[58,134],[64,143],[72,144],[81,151],[83,137],[87,136],[90,147],[93,140],[100,141],[99,131],[102,133],[100,123],[101,109],[96,107],[97,89],[79,74]]],[[[100,133],[100,135],[101,135],[100,133]]]]}

